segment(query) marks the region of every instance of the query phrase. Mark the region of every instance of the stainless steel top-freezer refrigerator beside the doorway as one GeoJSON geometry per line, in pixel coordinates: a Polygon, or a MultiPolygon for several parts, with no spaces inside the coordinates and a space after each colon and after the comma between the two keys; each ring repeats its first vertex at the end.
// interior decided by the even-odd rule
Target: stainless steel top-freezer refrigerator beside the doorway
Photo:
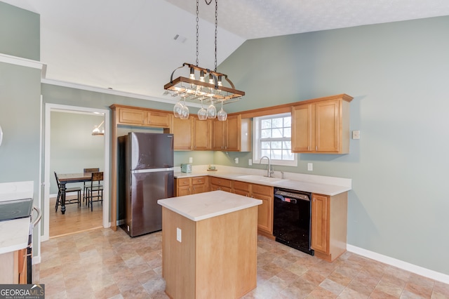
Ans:
{"type": "Polygon", "coordinates": [[[118,159],[121,227],[131,237],[162,230],[157,200],[173,197],[173,134],[121,136],[118,159]]]}

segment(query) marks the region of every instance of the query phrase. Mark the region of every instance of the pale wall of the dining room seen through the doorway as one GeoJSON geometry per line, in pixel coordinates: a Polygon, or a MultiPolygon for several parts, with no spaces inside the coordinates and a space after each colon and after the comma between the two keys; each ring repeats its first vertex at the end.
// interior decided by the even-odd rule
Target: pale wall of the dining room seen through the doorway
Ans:
{"type": "MultiPolygon", "coordinates": [[[[51,112],[50,194],[58,193],[53,172],[82,173],[83,168],[105,169],[105,137],[92,135],[103,116],[51,112]]],[[[82,187],[82,183],[78,187],[82,187]]],[[[76,187],[71,184],[70,187],[76,187]]]]}

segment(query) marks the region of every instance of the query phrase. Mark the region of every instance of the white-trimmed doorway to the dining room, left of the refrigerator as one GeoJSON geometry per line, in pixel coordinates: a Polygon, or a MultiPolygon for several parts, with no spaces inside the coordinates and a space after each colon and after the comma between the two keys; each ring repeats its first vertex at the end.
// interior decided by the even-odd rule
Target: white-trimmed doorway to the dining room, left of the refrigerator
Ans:
{"type": "MultiPolygon", "coordinates": [[[[109,110],[46,104],[45,123],[42,241],[46,241],[51,237],[73,233],[73,231],[81,232],[98,226],[109,227],[109,110]],[[79,126],[74,126],[70,129],[65,127],[68,125],[66,123],[76,122],[76,119],[81,120],[83,123],[86,122],[86,119],[91,119],[91,123],[96,126],[104,121],[104,135],[91,135],[93,125],[89,125],[88,129],[86,129],[86,125],[81,126],[81,123],[79,123],[79,126]],[[58,145],[61,143],[65,143],[64,146],[66,147],[67,143],[70,143],[72,146],[68,147],[66,153],[62,153],[64,146],[58,145]],[[95,147],[97,147],[96,150],[94,149],[95,147]],[[98,147],[100,147],[100,152],[98,147]],[[67,209],[64,215],[62,215],[60,207],[55,212],[58,188],[56,187],[53,171],[58,169],[58,171],[66,173],[82,173],[83,168],[93,167],[100,168],[100,171],[104,173],[102,203],[94,202],[94,212],[91,212],[91,209],[87,208],[86,202],[83,202],[81,193],[81,207],[77,204],[69,204],[66,206],[67,209]],[[65,228],[63,230],[53,230],[50,227],[50,223],[68,225],[67,232],[64,231],[65,228]]],[[[102,131],[102,128],[100,130],[102,131]]],[[[67,184],[67,187],[81,187],[83,190],[82,182],[76,184],[73,186],[72,184],[67,184]]]]}

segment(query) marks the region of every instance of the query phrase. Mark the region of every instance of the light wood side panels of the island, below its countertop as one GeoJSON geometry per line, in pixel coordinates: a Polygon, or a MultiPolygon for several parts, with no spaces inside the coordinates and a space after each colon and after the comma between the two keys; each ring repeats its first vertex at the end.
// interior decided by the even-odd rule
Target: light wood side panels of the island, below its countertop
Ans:
{"type": "Polygon", "coordinates": [[[196,222],[162,208],[162,276],[170,298],[241,298],[256,287],[256,208],[196,222]]]}

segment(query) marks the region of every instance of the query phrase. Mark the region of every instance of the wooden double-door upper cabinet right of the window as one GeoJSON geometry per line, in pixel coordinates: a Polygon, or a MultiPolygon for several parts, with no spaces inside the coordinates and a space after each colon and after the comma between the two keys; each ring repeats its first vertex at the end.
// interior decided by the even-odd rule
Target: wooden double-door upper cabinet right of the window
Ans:
{"type": "Polygon", "coordinates": [[[292,107],[292,152],[348,154],[351,100],[342,94],[292,107]]]}

